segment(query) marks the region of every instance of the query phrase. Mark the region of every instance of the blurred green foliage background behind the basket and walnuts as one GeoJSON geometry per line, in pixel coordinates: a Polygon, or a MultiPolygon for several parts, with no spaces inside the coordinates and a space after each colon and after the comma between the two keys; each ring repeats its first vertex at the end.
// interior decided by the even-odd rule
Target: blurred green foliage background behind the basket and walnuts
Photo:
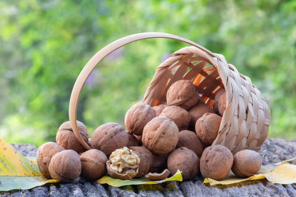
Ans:
{"type": "MultiPolygon", "coordinates": [[[[55,141],[83,66],[112,41],[141,32],[180,35],[223,54],[267,100],[269,137],[296,138],[296,0],[1,0],[0,136],[55,141]]],[[[90,133],[124,125],[155,68],[185,46],[158,38],[110,54],[87,80],[77,119],[90,133]]]]}

